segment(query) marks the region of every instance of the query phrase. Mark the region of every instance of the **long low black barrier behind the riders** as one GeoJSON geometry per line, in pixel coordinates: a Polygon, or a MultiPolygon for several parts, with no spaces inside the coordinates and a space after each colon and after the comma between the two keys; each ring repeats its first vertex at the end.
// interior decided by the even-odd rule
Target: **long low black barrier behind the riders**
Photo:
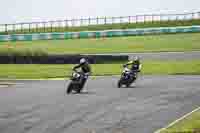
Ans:
{"type": "Polygon", "coordinates": [[[0,64],[77,64],[83,57],[85,57],[91,64],[119,63],[128,61],[128,55],[0,55],[0,64]]]}

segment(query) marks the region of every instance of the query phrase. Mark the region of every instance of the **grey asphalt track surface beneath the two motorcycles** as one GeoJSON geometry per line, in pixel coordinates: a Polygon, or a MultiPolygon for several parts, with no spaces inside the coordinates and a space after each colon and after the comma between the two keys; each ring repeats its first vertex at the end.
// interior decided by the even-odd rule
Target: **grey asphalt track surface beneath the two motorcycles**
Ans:
{"type": "Polygon", "coordinates": [[[200,76],[143,76],[120,89],[117,80],[89,80],[72,95],[64,81],[1,87],[0,133],[151,133],[200,105],[200,76]]]}

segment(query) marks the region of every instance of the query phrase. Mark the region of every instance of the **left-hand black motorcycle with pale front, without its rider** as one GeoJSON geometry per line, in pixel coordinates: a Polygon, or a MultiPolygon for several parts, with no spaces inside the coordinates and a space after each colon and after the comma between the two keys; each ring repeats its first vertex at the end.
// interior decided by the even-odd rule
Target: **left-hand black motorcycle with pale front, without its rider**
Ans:
{"type": "Polygon", "coordinates": [[[88,79],[88,75],[85,75],[82,72],[73,71],[70,83],[67,87],[67,94],[71,93],[72,91],[75,91],[76,93],[81,93],[83,86],[88,79]]]}

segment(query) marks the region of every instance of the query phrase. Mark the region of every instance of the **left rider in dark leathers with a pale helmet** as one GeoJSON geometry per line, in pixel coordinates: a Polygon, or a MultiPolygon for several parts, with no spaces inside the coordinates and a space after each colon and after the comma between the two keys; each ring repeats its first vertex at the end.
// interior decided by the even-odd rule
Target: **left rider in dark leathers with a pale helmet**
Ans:
{"type": "Polygon", "coordinates": [[[89,62],[85,58],[81,58],[80,63],[74,66],[73,70],[76,71],[76,69],[78,68],[81,68],[81,73],[84,76],[84,78],[82,79],[82,84],[81,84],[81,89],[82,89],[87,81],[87,77],[91,73],[91,67],[89,65],[89,62]]]}

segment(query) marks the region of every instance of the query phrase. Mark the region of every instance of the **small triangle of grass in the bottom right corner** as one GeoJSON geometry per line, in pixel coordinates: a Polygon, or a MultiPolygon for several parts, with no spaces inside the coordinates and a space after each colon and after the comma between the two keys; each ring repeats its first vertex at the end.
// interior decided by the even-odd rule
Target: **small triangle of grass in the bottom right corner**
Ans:
{"type": "Polygon", "coordinates": [[[200,111],[192,113],[175,125],[163,130],[161,133],[199,133],[200,132],[200,111]]]}

